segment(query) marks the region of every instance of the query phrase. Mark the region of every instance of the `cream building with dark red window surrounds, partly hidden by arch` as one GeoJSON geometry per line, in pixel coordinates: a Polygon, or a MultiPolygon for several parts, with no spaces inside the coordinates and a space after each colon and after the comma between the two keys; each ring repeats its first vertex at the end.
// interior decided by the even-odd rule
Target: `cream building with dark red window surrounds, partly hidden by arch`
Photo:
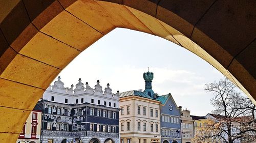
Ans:
{"type": "Polygon", "coordinates": [[[36,105],[31,111],[16,143],[39,143],[41,134],[42,109],[36,105]]]}

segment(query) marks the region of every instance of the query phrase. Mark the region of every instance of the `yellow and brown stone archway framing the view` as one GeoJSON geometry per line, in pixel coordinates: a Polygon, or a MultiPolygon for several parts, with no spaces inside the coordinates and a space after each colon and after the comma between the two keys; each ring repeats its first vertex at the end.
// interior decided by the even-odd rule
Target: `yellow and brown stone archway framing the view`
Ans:
{"type": "Polygon", "coordinates": [[[58,73],[116,27],[190,50],[255,103],[256,1],[13,0],[0,6],[1,142],[15,142],[58,73]]]}

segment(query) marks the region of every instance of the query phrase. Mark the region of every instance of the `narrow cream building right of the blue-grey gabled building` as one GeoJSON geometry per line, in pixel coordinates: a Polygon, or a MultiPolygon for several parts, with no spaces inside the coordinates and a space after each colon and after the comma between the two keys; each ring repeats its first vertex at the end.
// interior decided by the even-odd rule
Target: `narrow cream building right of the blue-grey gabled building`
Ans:
{"type": "Polygon", "coordinates": [[[194,138],[194,120],[190,116],[189,110],[182,110],[181,120],[181,142],[191,143],[193,142],[192,139],[194,138]]]}

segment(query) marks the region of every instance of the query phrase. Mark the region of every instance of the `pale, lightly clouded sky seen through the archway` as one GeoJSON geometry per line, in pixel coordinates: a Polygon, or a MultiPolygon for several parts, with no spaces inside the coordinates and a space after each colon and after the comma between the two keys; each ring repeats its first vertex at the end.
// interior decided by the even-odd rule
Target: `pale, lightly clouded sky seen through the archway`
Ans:
{"type": "Polygon", "coordinates": [[[204,87],[224,78],[222,73],[170,41],[125,28],[116,28],[92,44],[59,76],[65,87],[70,88],[81,78],[93,88],[99,79],[103,89],[110,83],[116,93],[144,90],[147,67],[154,73],[155,93],[172,94],[176,104],[189,109],[191,115],[205,116],[214,109],[210,105],[212,93],[206,93],[204,87]]]}

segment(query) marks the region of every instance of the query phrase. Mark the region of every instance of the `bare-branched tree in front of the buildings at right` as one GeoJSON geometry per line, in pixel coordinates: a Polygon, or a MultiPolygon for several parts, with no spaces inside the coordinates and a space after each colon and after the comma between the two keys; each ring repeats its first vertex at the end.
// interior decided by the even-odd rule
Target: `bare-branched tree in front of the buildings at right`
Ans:
{"type": "Polygon", "coordinates": [[[215,110],[196,135],[198,142],[256,142],[255,105],[227,78],[205,85],[215,110]]]}

